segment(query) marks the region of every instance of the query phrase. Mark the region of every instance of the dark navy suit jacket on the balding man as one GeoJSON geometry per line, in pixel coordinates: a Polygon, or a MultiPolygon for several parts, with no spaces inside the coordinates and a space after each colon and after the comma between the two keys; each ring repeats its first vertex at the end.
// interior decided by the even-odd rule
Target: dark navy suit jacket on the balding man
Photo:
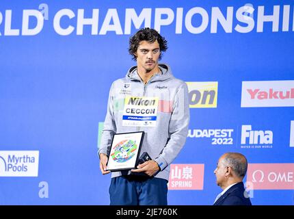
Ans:
{"type": "Polygon", "coordinates": [[[213,205],[252,205],[250,198],[244,196],[243,182],[237,183],[217,199],[213,205]]]}

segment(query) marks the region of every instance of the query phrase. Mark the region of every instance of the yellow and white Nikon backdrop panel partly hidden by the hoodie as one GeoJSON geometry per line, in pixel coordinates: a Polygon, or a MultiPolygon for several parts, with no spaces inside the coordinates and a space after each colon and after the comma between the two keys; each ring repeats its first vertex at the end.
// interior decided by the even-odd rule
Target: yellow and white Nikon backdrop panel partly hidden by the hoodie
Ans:
{"type": "Polygon", "coordinates": [[[186,82],[190,108],[217,107],[217,81],[186,82]]]}

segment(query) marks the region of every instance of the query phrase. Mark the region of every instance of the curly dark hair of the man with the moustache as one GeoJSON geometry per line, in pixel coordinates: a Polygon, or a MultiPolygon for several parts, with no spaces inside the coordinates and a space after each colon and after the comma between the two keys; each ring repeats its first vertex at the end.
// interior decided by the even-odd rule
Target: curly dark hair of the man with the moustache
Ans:
{"type": "MultiPolygon", "coordinates": [[[[161,36],[155,29],[150,29],[149,27],[145,27],[137,31],[133,36],[131,36],[129,41],[129,53],[133,56],[132,60],[137,60],[135,56],[135,52],[139,47],[139,43],[141,41],[148,41],[150,43],[157,42],[159,43],[159,49],[161,52],[165,52],[168,49],[168,41],[165,40],[163,36],[161,36]]],[[[161,60],[161,55],[159,55],[159,60],[161,60]]]]}

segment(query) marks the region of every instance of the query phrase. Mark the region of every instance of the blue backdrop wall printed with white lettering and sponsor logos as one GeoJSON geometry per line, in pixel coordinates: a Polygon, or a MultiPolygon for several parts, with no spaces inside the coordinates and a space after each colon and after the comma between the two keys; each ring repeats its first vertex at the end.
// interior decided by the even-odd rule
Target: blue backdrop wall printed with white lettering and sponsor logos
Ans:
{"type": "Polygon", "coordinates": [[[161,61],[175,77],[217,82],[214,107],[193,105],[191,95],[191,133],[233,129],[232,144],[224,144],[228,136],[187,138],[174,164],[204,164],[197,179],[203,188],[170,190],[168,203],[212,205],[220,192],[217,159],[237,151],[269,171],[285,166],[275,174],[286,178],[254,184],[253,205],[293,205],[293,8],[293,1],[268,0],[1,1],[0,204],[109,204],[110,175],[101,174],[96,155],[98,124],[111,83],[135,65],[129,37],[150,26],[168,40],[161,61]],[[267,143],[245,138],[245,125],[263,131],[267,143]]]}

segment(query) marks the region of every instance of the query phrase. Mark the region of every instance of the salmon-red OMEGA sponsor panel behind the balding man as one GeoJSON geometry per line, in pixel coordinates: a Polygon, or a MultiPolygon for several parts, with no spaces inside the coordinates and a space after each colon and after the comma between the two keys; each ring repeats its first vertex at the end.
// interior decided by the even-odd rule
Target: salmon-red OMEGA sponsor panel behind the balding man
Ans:
{"type": "Polygon", "coordinates": [[[293,190],[294,164],[248,164],[247,181],[254,190],[293,190]]]}

